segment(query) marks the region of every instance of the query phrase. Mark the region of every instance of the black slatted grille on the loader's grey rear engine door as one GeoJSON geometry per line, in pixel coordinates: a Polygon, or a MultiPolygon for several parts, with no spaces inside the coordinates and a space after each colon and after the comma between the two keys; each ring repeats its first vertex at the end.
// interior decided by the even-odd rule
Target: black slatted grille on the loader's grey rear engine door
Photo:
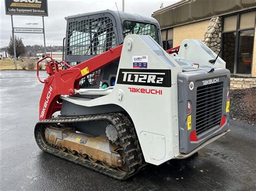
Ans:
{"type": "Polygon", "coordinates": [[[220,124],[223,109],[223,82],[197,87],[196,133],[220,124]]]}

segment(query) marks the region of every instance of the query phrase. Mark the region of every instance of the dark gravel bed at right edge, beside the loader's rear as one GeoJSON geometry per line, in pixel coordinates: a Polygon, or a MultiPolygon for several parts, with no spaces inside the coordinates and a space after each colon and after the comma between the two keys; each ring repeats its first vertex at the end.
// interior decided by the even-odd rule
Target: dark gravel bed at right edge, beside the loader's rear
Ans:
{"type": "Polygon", "coordinates": [[[256,126],[256,88],[230,91],[230,118],[256,126]]]}

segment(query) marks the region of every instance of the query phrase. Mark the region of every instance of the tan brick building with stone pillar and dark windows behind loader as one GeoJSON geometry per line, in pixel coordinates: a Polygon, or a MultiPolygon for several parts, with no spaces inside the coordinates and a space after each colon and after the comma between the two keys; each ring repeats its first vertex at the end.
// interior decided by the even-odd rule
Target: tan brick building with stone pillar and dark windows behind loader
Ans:
{"type": "Polygon", "coordinates": [[[200,39],[234,75],[256,77],[256,0],[185,0],[153,12],[165,49],[200,39]]]}

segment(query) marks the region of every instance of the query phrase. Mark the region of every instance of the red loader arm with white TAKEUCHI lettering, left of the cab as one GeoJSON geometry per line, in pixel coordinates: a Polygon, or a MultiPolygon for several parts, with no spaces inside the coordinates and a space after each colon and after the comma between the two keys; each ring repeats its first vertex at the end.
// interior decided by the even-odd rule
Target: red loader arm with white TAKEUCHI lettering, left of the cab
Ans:
{"type": "Polygon", "coordinates": [[[120,58],[123,45],[109,49],[89,60],[71,67],[68,63],[57,62],[50,56],[45,56],[37,62],[37,78],[44,83],[43,93],[39,102],[39,120],[48,119],[56,111],[62,108],[62,103],[58,102],[60,95],[74,95],[75,89],[79,89],[79,81],[86,75],[92,74],[96,70],[106,66],[114,60],[120,58]],[[39,63],[50,58],[46,63],[46,73],[49,76],[41,80],[39,77],[39,63]],[[61,69],[68,68],[68,69],[61,69]]]}

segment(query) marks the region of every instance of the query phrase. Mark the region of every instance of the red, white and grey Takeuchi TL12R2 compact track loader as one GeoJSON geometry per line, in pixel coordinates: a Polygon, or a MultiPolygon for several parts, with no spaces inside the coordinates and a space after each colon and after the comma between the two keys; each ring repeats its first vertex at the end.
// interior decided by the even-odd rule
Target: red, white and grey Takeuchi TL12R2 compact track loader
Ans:
{"type": "Polygon", "coordinates": [[[64,61],[37,63],[43,151],[124,180],[230,131],[230,72],[200,40],[165,51],[155,19],[125,12],[66,20],[64,61]]]}

